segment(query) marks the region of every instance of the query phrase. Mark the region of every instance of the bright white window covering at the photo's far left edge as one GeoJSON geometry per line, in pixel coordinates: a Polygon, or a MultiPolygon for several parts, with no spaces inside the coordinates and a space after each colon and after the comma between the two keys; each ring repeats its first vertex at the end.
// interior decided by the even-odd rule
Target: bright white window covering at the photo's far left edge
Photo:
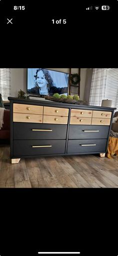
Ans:
{"type": "Polygon", "coordinates": [[[2,100],[8,100],[11,93],[11,69],[0,68],[0,93],[2,100]]]}

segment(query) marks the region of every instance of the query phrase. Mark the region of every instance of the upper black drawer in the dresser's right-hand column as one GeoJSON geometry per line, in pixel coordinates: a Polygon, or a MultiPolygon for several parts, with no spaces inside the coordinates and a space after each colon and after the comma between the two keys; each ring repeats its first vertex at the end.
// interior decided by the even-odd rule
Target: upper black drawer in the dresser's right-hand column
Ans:
{"type": "Polygon", "coordinates": [[[107,139],[107,125],[69,125],[69,139],[107,139]]]}

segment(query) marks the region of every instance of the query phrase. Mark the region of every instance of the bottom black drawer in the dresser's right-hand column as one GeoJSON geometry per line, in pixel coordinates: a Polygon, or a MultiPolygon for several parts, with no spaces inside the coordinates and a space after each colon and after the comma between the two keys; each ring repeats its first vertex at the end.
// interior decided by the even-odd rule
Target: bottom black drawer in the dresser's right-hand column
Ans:
{"type": "Polygon", "coordinates": [[[68,140],[67,153],[105,151],[107,140],[68,140]]]}

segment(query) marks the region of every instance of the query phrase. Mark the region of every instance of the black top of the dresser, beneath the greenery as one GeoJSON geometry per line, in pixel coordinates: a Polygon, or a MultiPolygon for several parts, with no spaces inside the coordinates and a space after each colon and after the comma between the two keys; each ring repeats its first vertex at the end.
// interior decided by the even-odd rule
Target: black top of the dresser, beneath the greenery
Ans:
{"type": "Polygon", "coordinates": [[[12,100],[13,103],[20,103],[20,104],[34,104],[34,105],[42,105],[42,106],[58,106],[58,107],[65,107],[65,108],[78,108],[78,109],[98,109],[104,111],[113,111],[116,107],[103,107],[103,106],[91,106],[91,105],[83,105],[83,104],[71,104],[71,103],[62,103],[50,100],[39,100],[39,99],[22,99],[16,97],[8,97],[8,100],[12,100]]]}

